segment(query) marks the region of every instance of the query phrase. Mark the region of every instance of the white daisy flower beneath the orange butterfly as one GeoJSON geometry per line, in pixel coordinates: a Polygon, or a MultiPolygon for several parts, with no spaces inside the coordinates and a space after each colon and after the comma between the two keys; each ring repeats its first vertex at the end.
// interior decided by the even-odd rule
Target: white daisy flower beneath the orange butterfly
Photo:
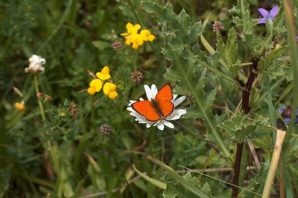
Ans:
{"type": "MultiPolygon", "coordinates": [[[[154,84],[152,84],[151,89],[150,89],[148,85],[144,85],[144,88],[145,88],[145,92],[146,92],[148,100],[151,101],[151,99],[155,99],[155,96],[158,92],[156,86],[154,84]]],[[[136,117],[136,119],[135,119],[136,121],[138,121],[139,123],[146,124],[147,128],[149,128],[151,125],[153,125],[153,126],[157,126],[157,128],[162,131],[164,129],[164,125],[165,125],[171,129],[173,129],[174,125],[172,123],[170,123],[169,120],[177,120],[183,114],[186,113],[186,109],[175,109],[175,107],[178,106],[184,99],[185,99],[185,96],[182,96],[177,99],[177,95],[173,95],[173,99],[171,100],[171,102],[174,104],[173,112],[170,115],[168,115],[167,117],[165,117],[164,119],[158,120],[157,122],[151,122],[151,121],[147,120],[145,118],[145,116],[139,114],[131,107],[131,105],[137,101],[130,100],[130,103],[128,104],[129,107],[127,107],[127,110],[131,111],[130,115],[136,117]]],[[[144,100],[144,99],[140,98],[140,101],[142,101],[142,100],[144,100]]]]}

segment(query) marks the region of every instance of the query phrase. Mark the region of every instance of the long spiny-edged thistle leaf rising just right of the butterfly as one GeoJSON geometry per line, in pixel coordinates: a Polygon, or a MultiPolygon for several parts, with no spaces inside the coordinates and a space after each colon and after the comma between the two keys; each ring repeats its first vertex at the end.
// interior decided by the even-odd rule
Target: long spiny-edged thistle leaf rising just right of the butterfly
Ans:
{"type": "Polygon", "coordinates": [[[177,16],[170,4],[161,7],[156,3],[145,1],[142,5],[147,11],[154,12],[159,23],[163,24],[161,34],[165,45],[162,48],[162,53],[172,63],[164,76],[166,79],[175,82],[176,94],[188,93],[194,99],[193,106],[187,109],[184,118],[202,118],[205,120],[209,132],[213,134],[215,141],[221,146],[224,155],[229,156],[230,152],[224,144],[222,134],[217,131],[212,123],[211,105],[215,99],[215,91],[204,91],[207,84],[206,54],[200,52],[198,45],[191,48],[192,42],[199,39],[200,22],[191,26],[190,17],[185,10],[182,10],[177,16]]]}

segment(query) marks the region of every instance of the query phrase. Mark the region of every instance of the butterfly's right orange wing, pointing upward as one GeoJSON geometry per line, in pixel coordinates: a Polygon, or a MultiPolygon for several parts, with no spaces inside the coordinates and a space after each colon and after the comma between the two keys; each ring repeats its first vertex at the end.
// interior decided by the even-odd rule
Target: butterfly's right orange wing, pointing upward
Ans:
{"type": "Polygon", "coordinates": [[[162,111],[164,117],[169,116],[174,110],[172,84],[165,84],[155,96],[155,101],[159,109],[162,111]]]}

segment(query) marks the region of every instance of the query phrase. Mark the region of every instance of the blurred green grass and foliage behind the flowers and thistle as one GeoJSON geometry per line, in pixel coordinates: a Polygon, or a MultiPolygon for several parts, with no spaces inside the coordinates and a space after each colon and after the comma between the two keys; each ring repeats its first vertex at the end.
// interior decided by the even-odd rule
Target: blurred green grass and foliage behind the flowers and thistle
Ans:
{"type": "MultiPolygon", "coordinates": [[[[278,0],[247,1],[255,19],[260,17],[258,8],[270,10],[280,5],[278,0]]],[[[208,18],[204,35],[213,48],[216,48],[217,35],[212,25],[219,20],[223,23],[221,34],[226,41],[228,31],[233,27],[232,16],[226,10],[237,4],[236,0],[152,2],[161,6],[170,3],[177,14],[185,9],[192,24],[208,18]]],[[[106,198],[159,198],[162,194],[167,195],[166,192],[168,198],[174,198],[169,192],[175,192],[181,198],[194,196],[187,194],[178,181],[165,175],[164,169],[152,163],[143,155],[145,153],[151,153],[183,174],[186,169],[177,165],[210,169],[208,175],[232,183],[230,164],[219,153],[217,145],[205,140],[207,128],[201,119],[179,119],[174,122],[174,129],[157,130],[150,143],[150,129],[135,122],[126,110],[129,99],[137,100],[145,95],[145,84],[155,84],[160,89],[167,83],[164,74],[171,65],[161,53],[164,45],[161,25],[154,14],[145,11],[140,0],[1,0],[0,10],[0,197],[89,198],[102,194],[106,198]],[[126,32],[127,22],[140,23],[156,39],[139,50],[124,45],[120,34],[126,32]],[[113,49],[115,41],[122,42],[121,50],[113,49]],[[40,92],[52,97],[43,104],[44,121],[36,98],[34,75],[24,72],[32,54],[41,55],[47,61],[45,73],[38,75],[40,92]],[[112,81],[117,85],[117,99],[109,99],[102,93],[90,96],[85,92],[92,79],[88,70],[99,72],[105,65],[109,66],[112,81]],[[141,84],[135,84],[131,79],[135,70],[144,74],[141,84]],[[13,87],[21,91],[23,99],[13,87]],[[14,107],[15,102],[22,100],[25,102],[24,112],[14,107]],[[58,110],[67,109],[70,101],[77,105],[77,115],[68,114],[61,118],[58,110]],[[111,135],[100,133],[103,124],[112,127],[111,135]],[[133,165],[155,180],[140,177],[133,165]],[[129,186],[126,186],[124,175],[128,181],[134,179],[129,186]],[[167,182],[170,185],[164,191],[162,185],[167,182]]],[[[266,36],[266,26],[258,25],[254,30],[256,37],[266,36]]],[[[208,50],[201,49],[209,54],[208,50]]],[[[238,51],[242,62],[252,61],[243,42],[239,43],[238,51]]],[[[293,80],[288,77],[272,92],[274,102],[293,80]]],[[[215,87],[220,89],[215,104],[234,112],[241,100],[241,90],[235,91],[233,86],[212,74],[209,74],[209,80],[206,91],[215,87]]],[[[281,105],[291,106],[293,97],[290,92],[281,105]]],[[[260,102],[254,112],[269,118],[267,102],[260,102]]],[[[181,104],[185,108],[191,105],[191,98],[181,104]]],[[[212,111],[230,116],[225,109],[213,108],[212,111]]],[[[268,169],[270,136],[254,143],[257,156],[268,169]]],[[[232,152],[235,152],[235,145],[235,142],[229,144],[232,152]]],[[[297,176],[297,162],[294,161],[291,167],[297,176]]],[[[257,182],[257,179],[251,180],[257,173],[248,146],[243,150],[241,169],[244,171],[240,174],[240,186],[265,182],[265,173],[258,175],[257,182]],[[246,167],[253,168],[245,171],[246,167]]],[[[224,182],[198,173],[184,177],[207,194],[212,193],[213,198],[231,197],[231,186],[224,182]]],[[[279,184],[272,191],[278,195],[279,184]]],[[[293,192],[298,195],[295,190],[293,192]]]]}

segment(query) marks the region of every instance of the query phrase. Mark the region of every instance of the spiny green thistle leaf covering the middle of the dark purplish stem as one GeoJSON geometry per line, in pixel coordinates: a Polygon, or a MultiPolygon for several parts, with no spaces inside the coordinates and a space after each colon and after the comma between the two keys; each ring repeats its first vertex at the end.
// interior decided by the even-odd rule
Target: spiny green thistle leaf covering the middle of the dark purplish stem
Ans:
{"type": "Polygon", "coordinates": [[[267,122],[268,119],[258,114],[255,114],[253,120],[249,120],[248,116],[242,112],[232,117],[230,120],[225,120],[219,126],[237,142],[243,142],[247,139],[260,138],[263,135],[267,135],[261,128],[264,127],[267,122]]]}

